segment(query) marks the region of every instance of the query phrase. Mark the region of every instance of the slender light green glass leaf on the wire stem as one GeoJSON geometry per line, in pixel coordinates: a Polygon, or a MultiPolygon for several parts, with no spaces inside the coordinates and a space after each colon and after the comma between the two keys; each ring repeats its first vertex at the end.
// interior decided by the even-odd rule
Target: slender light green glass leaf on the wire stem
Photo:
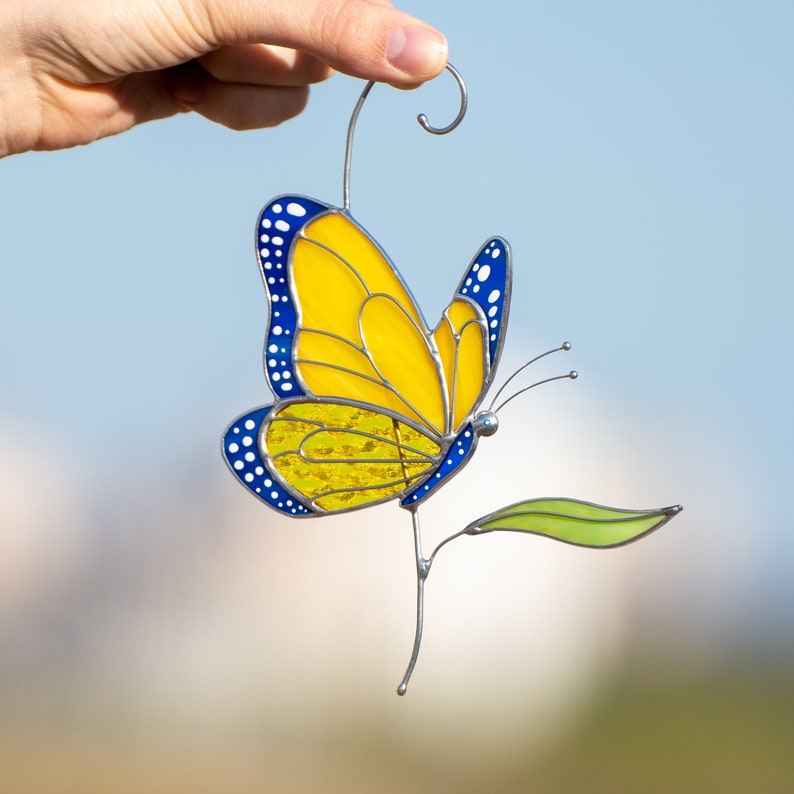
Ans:
{"type": "Polygon", "coordinates": [[[681,505],[659,510],[622,510],[577,499],[528,499],[473,521],[464,532],[529,532],[574,546],[606,549],[638,540],[682,510],[681,505]]]}

